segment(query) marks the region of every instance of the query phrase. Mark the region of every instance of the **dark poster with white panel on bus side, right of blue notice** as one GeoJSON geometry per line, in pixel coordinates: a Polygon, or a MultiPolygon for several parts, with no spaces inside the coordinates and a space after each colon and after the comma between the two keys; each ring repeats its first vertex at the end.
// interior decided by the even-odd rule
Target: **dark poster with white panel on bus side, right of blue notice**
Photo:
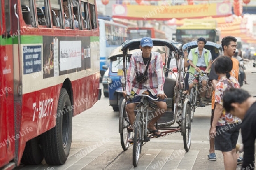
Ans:
{"type": "Polygon", "coordinates": [[[89,38],[43,37],[43,78],[90,69],[89,38]]]}

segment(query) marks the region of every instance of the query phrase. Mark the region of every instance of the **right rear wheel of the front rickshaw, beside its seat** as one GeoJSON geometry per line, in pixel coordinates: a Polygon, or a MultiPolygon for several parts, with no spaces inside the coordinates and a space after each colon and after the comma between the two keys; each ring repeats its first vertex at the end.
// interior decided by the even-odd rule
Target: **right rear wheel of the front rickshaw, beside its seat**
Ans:
{"type": "Polygon", "coordinates": [[[184,102],[181,133],[183,135],[184,149],[186,152],[188,152],[191,144],[191,110],[188,100],[184,102]]]}

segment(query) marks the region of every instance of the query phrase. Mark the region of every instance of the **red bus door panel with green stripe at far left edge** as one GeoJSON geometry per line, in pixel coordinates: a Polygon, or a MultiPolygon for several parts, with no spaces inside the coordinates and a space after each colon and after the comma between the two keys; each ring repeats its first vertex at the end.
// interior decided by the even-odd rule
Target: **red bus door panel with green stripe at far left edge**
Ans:
{"type": "Polygon", "coordinates": [[[14,159],[13,37],[11,3],[0,1],[0,167],[14,159]]]}

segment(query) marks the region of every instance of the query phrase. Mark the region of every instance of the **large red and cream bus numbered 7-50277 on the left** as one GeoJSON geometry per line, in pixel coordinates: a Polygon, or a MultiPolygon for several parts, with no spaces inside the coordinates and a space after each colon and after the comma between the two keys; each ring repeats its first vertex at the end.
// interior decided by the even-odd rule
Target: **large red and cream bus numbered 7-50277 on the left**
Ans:
{"type": "Polygon", "coordinates": [[[64,164],[101,97],[96,0],[0,1],[0,169],[64,164]]]}

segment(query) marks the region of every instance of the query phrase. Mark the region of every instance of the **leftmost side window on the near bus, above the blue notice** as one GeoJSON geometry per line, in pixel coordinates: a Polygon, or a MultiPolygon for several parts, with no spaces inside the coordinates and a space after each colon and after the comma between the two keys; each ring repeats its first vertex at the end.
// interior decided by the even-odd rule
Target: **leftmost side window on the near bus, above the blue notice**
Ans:
{"type": "Polygon", "coordinates": [[[32,27],[36,27],[34,1],[22,0],[20,1],[20,3],[24,22],[27,25],[32,25],[32,27]]]}

